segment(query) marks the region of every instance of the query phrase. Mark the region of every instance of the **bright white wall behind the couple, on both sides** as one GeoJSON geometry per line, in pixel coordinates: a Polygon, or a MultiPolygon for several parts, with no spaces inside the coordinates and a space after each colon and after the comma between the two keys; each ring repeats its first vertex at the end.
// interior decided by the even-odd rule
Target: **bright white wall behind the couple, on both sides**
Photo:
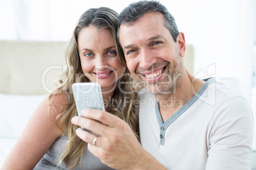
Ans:
{"type": "MultiPolygon", "coordinates": [[[[68,41],[82,13],[108,6],[118,13],[129,1],[0,0],[0,39],[68,41]]],[[[236,77],[251,101],[255,0],[162,0],[194,46],[197,74],[209,67],[212,76],[236,77]]],[[[206,77],[210,73],[206,73],[206,77]]]]}

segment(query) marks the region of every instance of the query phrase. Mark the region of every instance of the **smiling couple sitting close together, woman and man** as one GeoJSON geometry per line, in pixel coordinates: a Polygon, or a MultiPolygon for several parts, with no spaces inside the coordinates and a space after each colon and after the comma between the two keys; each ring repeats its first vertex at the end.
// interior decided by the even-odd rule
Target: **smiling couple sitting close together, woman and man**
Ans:
{"type": "Polygon", "coordinates": [[[214,78],[190,75],[184,55],[183,33],[156,1],[132,3],[120,15],[86,11],[67,50],[73,69],[34,112],[3,169],[250,169],[250,106],[214,78]],[[129,72],[146,92],[132,93],[129,72]],[[106,112],[78,117],[74,82],[99,82],[106,112]],[[136,108],[127,98],[143,102],[136,108]]]}

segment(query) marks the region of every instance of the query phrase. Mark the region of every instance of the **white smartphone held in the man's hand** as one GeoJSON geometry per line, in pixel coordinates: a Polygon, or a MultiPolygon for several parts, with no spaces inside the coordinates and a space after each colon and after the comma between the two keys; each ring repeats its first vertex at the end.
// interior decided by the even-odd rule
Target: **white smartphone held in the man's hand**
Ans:
{"type": "MultiPolygon", "coordinates": [[[[99,83],[76,82],[72,84],[72,90],[75,98],[78,115],[82,116],[81,111],[85,108],[94,108],[97,110],[105,111],[103,95],[101,93],[101,86],[99,85],[99,83]]],[[[88,129],[85,128],[82,129],[85,131],[89,131],[88,129]]],[[[92,131],[89,132],[93,133],[92,131]]]]}

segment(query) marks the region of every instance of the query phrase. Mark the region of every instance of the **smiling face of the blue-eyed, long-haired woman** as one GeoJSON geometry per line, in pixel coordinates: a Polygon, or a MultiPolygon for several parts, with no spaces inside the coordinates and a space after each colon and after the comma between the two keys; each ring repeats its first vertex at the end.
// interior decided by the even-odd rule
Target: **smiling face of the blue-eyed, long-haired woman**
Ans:
{"type": "Polygon", "coordinates": [[[98,82],[102,91],[113,89],[125,67],[117,58],[111,31],[98,30],[93,25],[83,28],[78,36],[78,50],[83,73],[90,82],[98,82]]]}

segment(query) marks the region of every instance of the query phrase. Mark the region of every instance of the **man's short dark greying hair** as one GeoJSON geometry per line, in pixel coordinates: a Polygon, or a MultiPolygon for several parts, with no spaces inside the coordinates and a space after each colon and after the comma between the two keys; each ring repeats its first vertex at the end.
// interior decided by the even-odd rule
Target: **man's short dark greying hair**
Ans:
{"type": "MultiPolygon", "coordinates": [[[[132,25],[136,21],[138,21],[139,18],[141,18],[145,13],[158,11],[164,15],[164,20],[166,23],[164,26],[166,29],[169,30],[171,33],[171,36],[173,37],[174,42],[176,42],[176,39],[178,37],[179,31],[176,26],[175,20],[171,13],[167,10],[167,8],[160,4],[158,1],[139,1],[137,3],[131,3],[129,6],[124,8],[124,10],[120,13],[118,16],[118,31],[121,24],[125,25],[132,25]]],[[[119,34],[118,34],[119,37],[119,34]]],[[[120,41],[120,40],[119,40],[120,41]]]]}

